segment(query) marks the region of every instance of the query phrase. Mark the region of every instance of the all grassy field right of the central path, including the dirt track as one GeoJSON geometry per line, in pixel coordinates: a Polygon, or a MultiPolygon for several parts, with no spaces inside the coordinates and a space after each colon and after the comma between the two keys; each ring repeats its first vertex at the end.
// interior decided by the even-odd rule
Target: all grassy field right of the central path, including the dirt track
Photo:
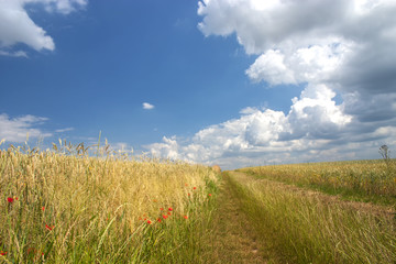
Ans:
{"type": "Polygon", "coordinates": [[[394,165],[261,166],[226,178],[278,263],[396,263],[394,165]]]}

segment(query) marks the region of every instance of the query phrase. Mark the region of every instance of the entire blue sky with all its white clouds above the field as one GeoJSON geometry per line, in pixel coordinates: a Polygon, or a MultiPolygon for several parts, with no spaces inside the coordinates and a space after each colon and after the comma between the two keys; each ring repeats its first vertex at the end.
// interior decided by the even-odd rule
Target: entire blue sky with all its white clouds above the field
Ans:
{"type": "Polygon", "coordinates": [[[377,158],[395,145],[394,11],[387,0],[3,0],[0,140],[92,144],[102,131],[114,150],[226,168],[377,158]]]}

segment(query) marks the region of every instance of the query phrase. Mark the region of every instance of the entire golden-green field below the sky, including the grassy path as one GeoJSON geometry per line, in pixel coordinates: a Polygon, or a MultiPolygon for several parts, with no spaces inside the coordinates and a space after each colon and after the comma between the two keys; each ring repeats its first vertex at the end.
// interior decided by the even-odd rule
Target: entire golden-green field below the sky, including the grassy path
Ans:
{"type": "Polygon", "coordinates": [[[220,173],[53,148],[0,151],[0,263],[396,263],[394,160],[220,173]]]}

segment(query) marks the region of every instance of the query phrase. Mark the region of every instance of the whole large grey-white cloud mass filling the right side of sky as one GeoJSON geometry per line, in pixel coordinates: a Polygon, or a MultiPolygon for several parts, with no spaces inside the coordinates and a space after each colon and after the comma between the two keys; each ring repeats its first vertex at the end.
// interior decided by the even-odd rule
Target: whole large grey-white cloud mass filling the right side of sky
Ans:
{"type": "Polygon", "coordinates": [[[288,112],[246,107],[147,148],[228,167],[377,157],[378,145],[396,144],[395,13],[393,0],[199,1],[204,35],[237,36],[257,56],[252,81],[302,91],[288,112]]]}

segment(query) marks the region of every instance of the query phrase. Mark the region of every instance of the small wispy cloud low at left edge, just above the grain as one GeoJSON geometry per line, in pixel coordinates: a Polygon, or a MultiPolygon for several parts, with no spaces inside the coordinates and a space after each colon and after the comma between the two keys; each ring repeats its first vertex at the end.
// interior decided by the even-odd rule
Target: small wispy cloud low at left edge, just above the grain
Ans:
{"type": "Polygon", "coordinates": [[[0,139],[9,142],[21,143],[30,139],[52,136],[52,133],[44,132],[36,128],[47,121],[47,118],[35,117],[31,114],[19,118],[9,118],[6,113],[0,114],[0,139]]]}

